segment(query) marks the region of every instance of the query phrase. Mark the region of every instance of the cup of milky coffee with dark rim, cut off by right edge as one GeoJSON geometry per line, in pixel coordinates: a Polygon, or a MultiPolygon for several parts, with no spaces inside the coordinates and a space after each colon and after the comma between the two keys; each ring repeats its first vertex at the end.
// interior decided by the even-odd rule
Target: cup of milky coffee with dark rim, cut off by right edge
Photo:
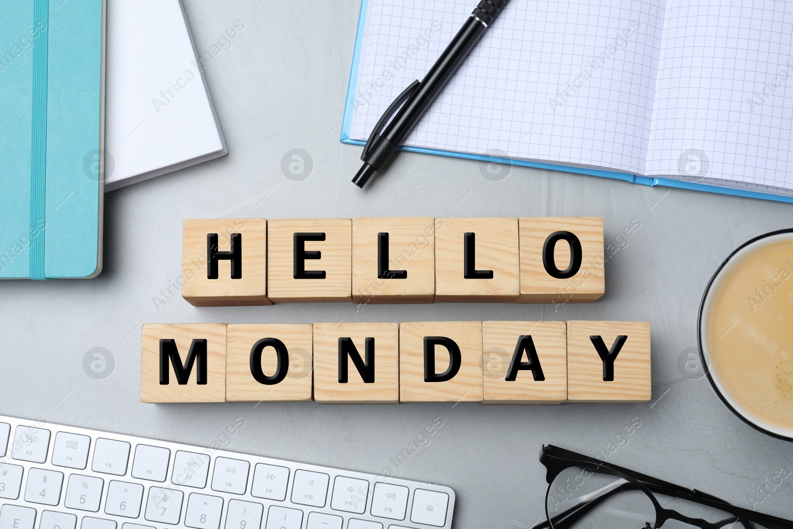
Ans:
{"type": "Polygon", "coordinates": [[[707,378],[727,407],[793,441],[793,228],[749,240],[718,267],[697,334],[707,378]]]}

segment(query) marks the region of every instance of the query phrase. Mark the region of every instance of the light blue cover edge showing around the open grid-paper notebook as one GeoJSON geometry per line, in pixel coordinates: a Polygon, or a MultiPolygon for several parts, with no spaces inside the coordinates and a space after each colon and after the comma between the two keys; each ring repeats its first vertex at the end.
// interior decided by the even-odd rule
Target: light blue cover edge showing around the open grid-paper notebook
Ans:
{"type": "MultiPolygon", "coordinates": [[[[369,8],[369,0],[361,1],[361,12],[358,15],[358,33],[355,36],[355,49],[352,56],[352,68],[350,70],[350,82],[347,85],[347,101],[344,104],[344,117],[342,119],[341,140],[345,144],[365,145],[366,142],[351,139],[352,118],[355,107],[355,89],[358,84],[358,65],[361,63],[361,51],[363,47],[364,32],[366,30],[366,10],[369,8]]],[[[419,79],[420,81],[420,79],[419,79]]],[[[508,165],[519,165],[523,167],[538,167],[539,169],[551,169],[554,171],[565,171],[567,173],[588,174],[590,176],[603,176],[615,178],[625,182],[633,182],[644,186],[667,186],[677,187],[687,190],[708,191],[711,193],[721,193],[737,197],[763,198],[765,200],[788,202],[793,204],[793,197],[782,195],[759,193],[757,191],[740,190],[732,187],[711,186],[699,182],[684,182],[674,178],[659,178],[641,176],[638,174],[620,173],[618,171],[607,171],[602,169],[590,169],[588,167],[575,167],[557,163],[532,162],[526,159],[502,158],[500,156],[477,155],[470,152],[446,151],[443,149],[412,147],[401,145],[400,151],[423,152],[426,154],[452,156],[454,158],[476,159],[485,162],[499,162],[508,165]]]]}

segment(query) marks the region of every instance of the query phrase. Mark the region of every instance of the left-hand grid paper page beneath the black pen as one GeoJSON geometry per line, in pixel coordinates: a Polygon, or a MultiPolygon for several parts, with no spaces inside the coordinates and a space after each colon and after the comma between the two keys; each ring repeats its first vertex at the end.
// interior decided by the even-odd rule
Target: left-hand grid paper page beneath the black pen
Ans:
{"type": "MultiPolygon", "coordinates": [[[[370,0],[352,139],[475,5],[370,0]]],[[[642,174],[663,19],[664,0],[512,0],[404,143],[642,174]]]]}

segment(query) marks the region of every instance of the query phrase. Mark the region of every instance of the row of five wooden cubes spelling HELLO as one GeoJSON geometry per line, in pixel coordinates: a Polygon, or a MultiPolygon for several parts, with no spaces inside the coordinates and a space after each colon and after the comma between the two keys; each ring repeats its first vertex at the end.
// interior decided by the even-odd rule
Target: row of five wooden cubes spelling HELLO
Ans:
{"type": "Polygon", "coordinates": [[[299,301],[595,301],[597,217],[188,219],[182,297],[193,305],[299,301]]]}

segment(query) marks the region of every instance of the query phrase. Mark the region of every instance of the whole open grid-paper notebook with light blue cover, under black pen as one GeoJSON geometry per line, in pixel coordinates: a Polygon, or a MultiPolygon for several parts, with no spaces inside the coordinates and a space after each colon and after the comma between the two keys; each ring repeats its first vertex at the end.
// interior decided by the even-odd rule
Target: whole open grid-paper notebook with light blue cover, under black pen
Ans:
{"type": "MultiPolygon", "coordinates": [[[[343,141],[472,8],[362,0],[343,141]]],[[[791,124],[793,2],[512,0],[404,148],[793,202],[791,124]]]]}

